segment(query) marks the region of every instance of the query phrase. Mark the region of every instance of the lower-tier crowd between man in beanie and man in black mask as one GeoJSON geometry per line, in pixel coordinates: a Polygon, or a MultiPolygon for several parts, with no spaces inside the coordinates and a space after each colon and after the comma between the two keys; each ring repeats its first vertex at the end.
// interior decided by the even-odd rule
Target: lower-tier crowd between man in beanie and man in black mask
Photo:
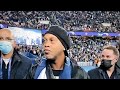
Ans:
{"type": "Polygon", "coordinates": [[[100,59],[100,53],[105,45],[117,46],[119,39],[109,39],[102,37],[80,37],[72,36],[72,47],[70,48],[70,58],[78,62],[94,62],[100,59]]]}

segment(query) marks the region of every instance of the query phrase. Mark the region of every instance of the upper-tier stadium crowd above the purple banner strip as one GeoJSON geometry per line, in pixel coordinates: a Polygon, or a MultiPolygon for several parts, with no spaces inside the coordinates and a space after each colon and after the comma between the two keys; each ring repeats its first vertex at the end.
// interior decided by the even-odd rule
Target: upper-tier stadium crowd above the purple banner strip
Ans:
{"type": "Polygon", "coordinates": [[[48,29],[60,25],[68,31],[119,32],[119,11],[0,11],[0,22],[9,26],[48,29]],[[41,24],[49,21],[49,24],[41,24]],[[104,28],[102,23],[110,24],[104,28]]]}

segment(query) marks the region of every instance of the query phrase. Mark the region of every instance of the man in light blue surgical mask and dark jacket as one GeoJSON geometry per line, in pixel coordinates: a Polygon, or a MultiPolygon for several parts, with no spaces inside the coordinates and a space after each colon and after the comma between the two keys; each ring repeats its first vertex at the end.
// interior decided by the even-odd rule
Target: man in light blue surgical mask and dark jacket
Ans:
{"type": "Polygon", "coordinates": [[[0,79],[31,79],[32,61],[19,54],[12,32],[0,29],[0,79]]]}

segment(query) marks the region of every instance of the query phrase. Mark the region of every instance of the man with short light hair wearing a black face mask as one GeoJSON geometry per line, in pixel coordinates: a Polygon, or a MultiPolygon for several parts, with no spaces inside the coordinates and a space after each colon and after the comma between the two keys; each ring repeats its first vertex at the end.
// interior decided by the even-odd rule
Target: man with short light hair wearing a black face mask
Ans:
{"type": "Polygon", "coordinates": [[[101,52],[101,65],[88,71],[90,79],[120,79],[120,69],[116,66],[119,51],[114,46],[105,46],[101,52]]]}

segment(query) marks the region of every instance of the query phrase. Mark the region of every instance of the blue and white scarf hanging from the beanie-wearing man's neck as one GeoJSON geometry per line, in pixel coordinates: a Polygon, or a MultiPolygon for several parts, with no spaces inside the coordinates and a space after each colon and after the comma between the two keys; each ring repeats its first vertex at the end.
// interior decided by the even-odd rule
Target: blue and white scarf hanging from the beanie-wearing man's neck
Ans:
{"type": "MultiPolygon", "coordinates": [[[[54,79],[50,65],[46,65],[46,59],[42,59],[38,65],[34,79],[54,79]]],[[[59,79],[71,79],[71,64],[67,57],[63,71],[59,75],[59,79]]]]}

